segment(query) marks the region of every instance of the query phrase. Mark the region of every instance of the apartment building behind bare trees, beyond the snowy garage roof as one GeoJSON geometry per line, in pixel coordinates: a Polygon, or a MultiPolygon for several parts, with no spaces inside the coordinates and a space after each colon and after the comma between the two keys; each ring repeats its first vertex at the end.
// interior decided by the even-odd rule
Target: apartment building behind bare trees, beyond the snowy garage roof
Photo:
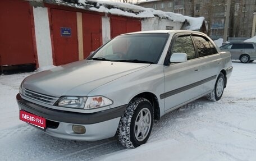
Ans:
{"type": "MultiPolygon", "coordinates": [[[[170,11],[192,17],[205,17],[207,34],[212,39],[222,38],[227,10],[227,0],[159,0],[138,5],[155,10],[170,11]]],[[[232,0],[230,8],[229,37],[249,38],[252,35],[253,13],[256,0],[232,0]]]]}

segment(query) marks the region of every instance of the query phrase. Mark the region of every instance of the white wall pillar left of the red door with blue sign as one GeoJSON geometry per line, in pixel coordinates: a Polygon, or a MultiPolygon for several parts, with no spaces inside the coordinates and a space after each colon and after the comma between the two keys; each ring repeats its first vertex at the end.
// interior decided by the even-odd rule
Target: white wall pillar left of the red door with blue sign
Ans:
{"type": "Polygon", "coordinates": [[[52,44],[47,8],[33,7],[39,67],[52,66],[52,44]]]}

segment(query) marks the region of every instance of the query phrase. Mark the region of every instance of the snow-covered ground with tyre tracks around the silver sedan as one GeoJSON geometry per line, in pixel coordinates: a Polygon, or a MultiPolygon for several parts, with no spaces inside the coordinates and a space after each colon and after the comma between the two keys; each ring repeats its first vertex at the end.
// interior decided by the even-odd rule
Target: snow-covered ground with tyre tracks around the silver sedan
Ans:
{"type": "Polygon", "coordinates": [[[19,121],[16,94],[31,73],[0,76],[0,160],[256,160],[256,62],[233,62],[218,102],[202,98],[166,114],[147,144],[125,149],[115,137],[57,139],[19,121]]]}

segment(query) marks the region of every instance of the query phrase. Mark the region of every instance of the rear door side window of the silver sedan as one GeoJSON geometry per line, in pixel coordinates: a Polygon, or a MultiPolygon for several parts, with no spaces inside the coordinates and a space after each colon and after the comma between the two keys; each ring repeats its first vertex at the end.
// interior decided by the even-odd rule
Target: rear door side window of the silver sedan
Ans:
{"type": "Polygon", "coordinates": [[[207,40],[206,38],[203,38],[201,36],[193,36],[193,39],[198,49],[199,57],[205,57],[205,56],[209,56],[211,54],[217,53],[217,50],[213,47],[211,42],[209,42],[209,40],[207,40]]]}

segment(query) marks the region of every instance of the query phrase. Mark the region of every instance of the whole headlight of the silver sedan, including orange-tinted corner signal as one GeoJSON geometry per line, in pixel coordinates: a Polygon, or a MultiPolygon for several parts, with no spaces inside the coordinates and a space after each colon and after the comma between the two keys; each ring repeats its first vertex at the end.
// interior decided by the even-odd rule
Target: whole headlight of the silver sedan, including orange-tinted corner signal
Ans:
{"type": "Polygon", "coordinates": [[[104,96],[63,96],[57,105],[67,108],[93,109],[111,105],[112,103],[112,100],[104,96]]]}

